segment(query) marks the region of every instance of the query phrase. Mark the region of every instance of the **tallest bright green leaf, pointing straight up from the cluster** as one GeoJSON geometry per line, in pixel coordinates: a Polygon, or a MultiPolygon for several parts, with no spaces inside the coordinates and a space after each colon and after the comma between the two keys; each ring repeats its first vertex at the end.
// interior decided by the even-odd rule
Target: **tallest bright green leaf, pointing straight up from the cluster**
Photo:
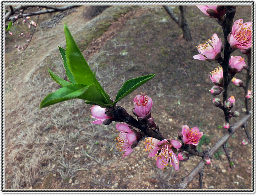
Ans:
{"type": "Polygon", "coordinates": [[[90,85],[93,83],[93,72],[79,50],[74,38],[71,35],[67,25],[64,25],[66,37],[66,58],[68,69],[73,74],[76,83],[90,85]]]}

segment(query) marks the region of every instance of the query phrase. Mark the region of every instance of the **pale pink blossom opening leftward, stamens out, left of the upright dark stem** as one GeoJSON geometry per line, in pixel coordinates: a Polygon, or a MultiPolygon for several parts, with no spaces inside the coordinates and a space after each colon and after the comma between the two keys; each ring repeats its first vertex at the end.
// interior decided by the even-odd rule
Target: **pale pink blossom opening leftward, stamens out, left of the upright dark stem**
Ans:
{"type": "Polygon", "coordinates": [[[211,40],[208,39],[205,43],[199,44],[197,50],[200,54],[194,55],[194,59],[206,60],[209,62],[213,60],[219,61],[221,59],[223,45],[221,39],[214,33],[211,40]]]}

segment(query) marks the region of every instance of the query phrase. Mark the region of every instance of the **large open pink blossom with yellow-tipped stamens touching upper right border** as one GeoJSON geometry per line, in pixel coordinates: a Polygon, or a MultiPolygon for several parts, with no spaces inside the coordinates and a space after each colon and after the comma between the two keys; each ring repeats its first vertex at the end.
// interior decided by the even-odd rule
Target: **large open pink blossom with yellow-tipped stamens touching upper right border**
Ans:
{"type": "Polygon", "coordinates": [[[243,23],[243,19],[236,20],[227,36],[231,48],[247,50],[252,47],[252,22],[243,23]]]}

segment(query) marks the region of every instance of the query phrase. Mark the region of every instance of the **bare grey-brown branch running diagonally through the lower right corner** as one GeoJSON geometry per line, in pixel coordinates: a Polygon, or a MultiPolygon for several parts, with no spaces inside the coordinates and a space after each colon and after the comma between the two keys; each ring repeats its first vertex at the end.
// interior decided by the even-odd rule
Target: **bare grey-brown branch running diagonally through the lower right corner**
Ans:
{"type": "MultiPolygon", "coordinates": [[[[222,147],[223,144],[227,142],[227,140],[232,136],[232,134],[239,129],[243,124],[246,123],[246,121],[251,117],[251,112],[241,118],[238,122],[231,125],[230,131],[227,132],[217,143],[215,143],[211,148],[207,150],[207,156],[212,157],[215,152],[218,151],[220,147],[222,147]]],[[[200,171],[204,169],[206,164],[204,163],[204,159],[202,159],[197,166],[182,180],[180,184],[177,185],[178,189],[185,189],[188,187],[188,185],[192,182],[193,179],[199,174],[200,171]]]]}

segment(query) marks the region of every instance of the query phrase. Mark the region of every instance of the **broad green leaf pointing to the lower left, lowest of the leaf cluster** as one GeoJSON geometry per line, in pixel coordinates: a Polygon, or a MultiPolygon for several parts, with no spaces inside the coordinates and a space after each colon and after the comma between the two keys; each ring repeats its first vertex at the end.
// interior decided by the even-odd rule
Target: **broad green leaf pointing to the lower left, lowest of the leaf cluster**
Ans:
{"type": "Polygon", "coordinates": [[[40,108],[50,106],[59,102],[66,100],[71,100],[74,98],[79,98],[89,86],[81,84],[70,84],[64,87],[61,87],[59,90],[48,94],[40,104],[40,108]]]}

